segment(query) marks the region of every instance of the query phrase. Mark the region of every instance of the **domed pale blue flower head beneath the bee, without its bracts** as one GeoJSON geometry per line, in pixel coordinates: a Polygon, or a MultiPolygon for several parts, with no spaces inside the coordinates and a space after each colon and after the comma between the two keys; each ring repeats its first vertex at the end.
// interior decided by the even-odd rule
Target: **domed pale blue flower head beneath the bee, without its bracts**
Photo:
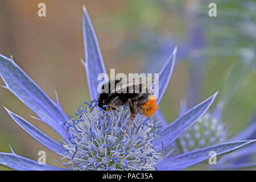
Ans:
{"type": "Polygon", "coordinates": [[[125,106],[121,111],[105,112],[90,105],[80,107],[66,123],[71,144],[63,142],[68,159],[65,166],[75,170],[155,170],[161,154],[152,140],[158,136],[156,121],[143,116],[129,127],[125,106]]]}

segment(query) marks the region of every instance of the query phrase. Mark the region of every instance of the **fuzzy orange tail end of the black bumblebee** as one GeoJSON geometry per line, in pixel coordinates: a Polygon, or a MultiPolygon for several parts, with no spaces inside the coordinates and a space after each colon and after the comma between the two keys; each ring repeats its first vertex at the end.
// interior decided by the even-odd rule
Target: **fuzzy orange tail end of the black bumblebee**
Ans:
{"type": "Polygon", "coordinates": [[[140,108],[140,113],[145,115],[147,118],[152,117],[155,114],[155,111],[158,109],[158,104],[156,102],[155,96],[150,96],[140,108]]]}

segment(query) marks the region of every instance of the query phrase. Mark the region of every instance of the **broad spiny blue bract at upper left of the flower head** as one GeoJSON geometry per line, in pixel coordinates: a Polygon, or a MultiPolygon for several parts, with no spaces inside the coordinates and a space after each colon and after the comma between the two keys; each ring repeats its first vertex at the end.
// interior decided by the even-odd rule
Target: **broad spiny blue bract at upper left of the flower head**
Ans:
{"type": "Polygon", "coordinates": [[[3,55],[0,55],[0,76],[6,84],[5,88],[61,137],[68,138],[63,127],[63,123],[68,121],[68,118],[61,107],[53,102],[12,59],[3,55]]]}

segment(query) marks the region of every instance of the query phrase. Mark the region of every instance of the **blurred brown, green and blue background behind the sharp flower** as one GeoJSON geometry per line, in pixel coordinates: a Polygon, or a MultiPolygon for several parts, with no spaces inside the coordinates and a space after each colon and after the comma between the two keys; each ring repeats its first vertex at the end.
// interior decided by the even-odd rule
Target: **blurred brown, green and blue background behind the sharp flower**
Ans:
{"type": "MultiPolygon", "coordinates": [[[[214,92],[224,102],[223,120],[232,136],[245,128],[256,111],[256,3],[214,1],[217,17],[208,15],[210,1],[172,0],[0,0],[0,53],[14,61],[55,101],[54,89],[67,115],[89,101],[82,42],[82,5],[88,9],[106,70],[116,73],[160,71],[178,46],[177,63],[160,104],[168,122],[179,115],[181,100],[191,107],[214,92]],[[46,3],[46,17],[38,3],[46,3]]],[[[2,80],[0,84],[3,85],[2,80]]],[[[58,135],[35,119],[8,90],[0,104],[30,121],[57,141],[58,135]]],[[[213,108],[214,106],[212,106],[213,108]]],[[[59,157],[24,132],[0,109],[0,151],[47,164],[59,157]]],[[[0,167],[0,169],[7,169],[0,167]]]]}

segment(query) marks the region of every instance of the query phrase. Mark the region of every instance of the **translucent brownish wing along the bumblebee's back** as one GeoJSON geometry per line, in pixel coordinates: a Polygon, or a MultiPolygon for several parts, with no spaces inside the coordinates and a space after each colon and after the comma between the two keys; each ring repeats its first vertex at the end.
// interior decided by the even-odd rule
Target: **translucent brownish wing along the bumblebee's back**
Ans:
{"type": "Polygon", "coordinates": [[[155,82],[156,78],[154,77],[142,77],[142,78],[134,78],[131,82],[119,82],[117,85],[115,85],[115,91],[129,88],[130,86],[136,86],[136,85],[145,85],[145,84],[152,84],[152,82],[155,82]]]}

